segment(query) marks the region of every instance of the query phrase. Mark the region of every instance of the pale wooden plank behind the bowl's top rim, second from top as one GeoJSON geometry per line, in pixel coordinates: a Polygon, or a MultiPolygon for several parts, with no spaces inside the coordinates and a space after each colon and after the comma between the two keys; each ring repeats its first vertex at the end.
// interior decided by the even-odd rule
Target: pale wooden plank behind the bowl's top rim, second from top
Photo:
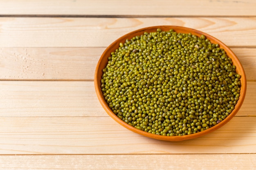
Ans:
{"type": "Polygon", "coordinates": [[[0,25],[0,47],[103,47],[126,33],[156,25],[198,29],[228,46],[256,46],[254,17],[0,18],[0,25]]]}

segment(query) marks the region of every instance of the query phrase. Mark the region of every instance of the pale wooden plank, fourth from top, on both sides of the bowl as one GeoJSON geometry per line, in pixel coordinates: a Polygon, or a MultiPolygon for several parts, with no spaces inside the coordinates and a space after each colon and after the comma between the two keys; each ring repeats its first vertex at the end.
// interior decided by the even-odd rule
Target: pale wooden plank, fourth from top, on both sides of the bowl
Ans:
{"type": "MultiPolygon", "coordinates": [[[[256,82],[236,116],[256,113],[256,82]]],[[[97,99],[93,82],[0,81],[0,117],[108,117],[97,99]]]]}

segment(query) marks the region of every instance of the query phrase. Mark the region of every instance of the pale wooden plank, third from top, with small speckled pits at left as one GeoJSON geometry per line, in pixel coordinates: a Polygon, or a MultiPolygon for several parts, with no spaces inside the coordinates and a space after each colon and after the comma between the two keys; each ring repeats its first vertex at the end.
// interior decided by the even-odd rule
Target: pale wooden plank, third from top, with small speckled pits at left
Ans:
{"type": "MultiPolygon", "coordinates": [[[[1,80],[93,80],[105,47],[0,48],[1,80]]],[[[232,48],[248,81],[256,81],[256,48],[232,48]]]]}

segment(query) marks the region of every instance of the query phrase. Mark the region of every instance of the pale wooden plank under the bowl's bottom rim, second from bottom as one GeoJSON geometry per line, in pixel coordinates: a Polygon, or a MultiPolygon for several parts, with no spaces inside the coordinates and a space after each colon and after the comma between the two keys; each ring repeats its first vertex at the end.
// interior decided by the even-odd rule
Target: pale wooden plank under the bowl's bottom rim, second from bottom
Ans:
{"type": "Polygon", "coordinates": [[[2,117],[0,154],[256,153],[256,117],[234,117],[197,139],[159,141],[110,117],[2,117]]]}

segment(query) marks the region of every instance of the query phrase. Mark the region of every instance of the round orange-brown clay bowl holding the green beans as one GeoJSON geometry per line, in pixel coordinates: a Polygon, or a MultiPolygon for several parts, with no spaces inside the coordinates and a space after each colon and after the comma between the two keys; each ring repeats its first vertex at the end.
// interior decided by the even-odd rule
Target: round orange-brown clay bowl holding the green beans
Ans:
{"type": "Polygon", "coordinates": [[[229,47],[227,47],[220,40],[214,38],[213,36],[211,36],[207,33],[203,33],[201,31],[186,28],[186,27],[181,27],[181,26],[151,26],[151,27],[139,29],[139,30],[136,30],[136,31],[132,31],[132,32],[118,38],[117,40],[115,40],[115,42],[113,42],[112,44],[110,44],[110,46],[108,46],[106,48],[106,50],[101,55],[101,57],[99,59],[99,62],[97,64],[97,67],[96,67],[95,77],[94,77],[94,86],[95,86],[95,90],[96,90],[96,94],[97,94],[97,97],[99,99],[99,102],[101,103],[103,108],[106,110],[108,115],[110,117],[112,117],[112,119],[117,121],[117,123],[119,123],[120,125],[124,126],[125,128],[127,128],[127,129],[129,129],[129,130],[131,130],[135,133],[138,133],[140,135],[144,135],[144,136],[149,137],[149,138],[159,139],[159,140],[164,140],[164,141],[182,141],[182,140],[193,139],[193,138],[201,137],[203,135],[207,135],[210,132],[213,132],[213,131],[217,130],[218,128],[222,127],[223,125],[227,124],[227,122],[229,122],[236,115],[236,113],[238,112],[238,110],[242,106],[243,101],[245,99],[247,84],[246,84],[245,71],[243,69],[242,64],[238,60],[238,57],[236,57],[236,55],[231,51],[231,49],[229,49],[229,47]],[[101,82],[100,82],[100,80],[101,80],[101,77],[103,75],[102,69],[106,67],[107,62],[108,62],[108,57],[110,57],[110,53],[112,51],[115,51],[115,49],[117,49],[119,47],[120,42],[124,43],[126,41],[126,39],[131,39],[131,38],[135,37],[136,35],[142,35],[144,32],[148,32],[148,33],[155,32],[157,28],[162,29],[162,31],[169,31],[170,29],[173,29],[177,33],[192,33],[193,35],[197,35],[199,37],[201,35],[205,35],[205,37],[207,39],[209,39],[211,41],[211,43],[219,44],[220,48],[224,49],[226,51],[227,55],[232,59],[233,64],[236,66],[236,72],[241,75],[241,78],[240,78],[240,82],[241,82],[240,97],[238,99],[238,102],[237,102],[234,110],[230,113],[229,116],[227,116],[219,124],[209,128],[207,130],[203,130],[202,132],[197,132],[197,133],[194,133],[194,134],[191,134],[191,135],[172,136],[172,137],[162,136],[162,135],[155,135],[155,134],[152,134],[152,133],[145,132],[143,130],[139,130],[139,129],[133,127],[133,126],[130,126],[129,124],[126,124],[124,121],[119,119],[119,117],[117,117],[117,115],[115,115],[115,113],[112,112],[112,110],[109,108],[108,104],[105,102],[103,94],[101,92],[101,87],[100,87],[101,82]]]}

